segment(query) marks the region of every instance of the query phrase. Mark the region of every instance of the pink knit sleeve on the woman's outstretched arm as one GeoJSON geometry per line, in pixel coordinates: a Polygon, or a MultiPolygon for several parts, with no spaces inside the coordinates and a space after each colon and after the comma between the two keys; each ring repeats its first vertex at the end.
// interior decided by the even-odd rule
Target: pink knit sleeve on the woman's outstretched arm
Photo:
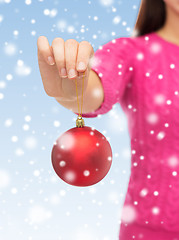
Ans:
{"type": "Polygon", "coordinates": [[[117,102],[120,103],[132,74],[131,51],[132,39],[121,37],[104,44],[94,53],[91,70],[101,80],[104,100],[96,111],[84,113],[83,117],[97,117],[110,111],[117,102]]]}

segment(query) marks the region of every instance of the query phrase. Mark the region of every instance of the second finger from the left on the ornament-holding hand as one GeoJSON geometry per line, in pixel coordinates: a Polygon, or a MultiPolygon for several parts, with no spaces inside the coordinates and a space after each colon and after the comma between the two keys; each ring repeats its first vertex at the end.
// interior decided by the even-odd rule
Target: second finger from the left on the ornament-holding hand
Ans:
{"type": "Polygon", "coordinates": [[[53,55],[61,77],[66,78],[65,43],[63,38],[55,38],[52,42],[53,55]]]}

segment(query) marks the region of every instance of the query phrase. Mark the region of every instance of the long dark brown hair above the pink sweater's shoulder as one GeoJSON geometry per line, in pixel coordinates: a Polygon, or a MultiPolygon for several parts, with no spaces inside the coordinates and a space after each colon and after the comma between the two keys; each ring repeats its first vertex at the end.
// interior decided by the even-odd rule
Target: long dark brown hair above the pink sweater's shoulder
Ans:
{"type": "Polygon", "coordinates": [[[164,0],[142,0],[134,27],[136,36],[154,32],[161,28],[166,19],[164,0]]]}

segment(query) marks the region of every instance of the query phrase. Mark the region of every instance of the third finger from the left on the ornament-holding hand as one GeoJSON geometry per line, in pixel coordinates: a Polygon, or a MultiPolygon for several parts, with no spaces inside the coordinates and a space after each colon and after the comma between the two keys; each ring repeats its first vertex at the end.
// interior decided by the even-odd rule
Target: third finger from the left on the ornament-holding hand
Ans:
{"type": "Polygon", "coordinates": [[[79,43],[75,39],[68,39],[65,42],[65,63],[68,78],[74,79],[78,76],[76,71],[76,59],[79,43]]]}

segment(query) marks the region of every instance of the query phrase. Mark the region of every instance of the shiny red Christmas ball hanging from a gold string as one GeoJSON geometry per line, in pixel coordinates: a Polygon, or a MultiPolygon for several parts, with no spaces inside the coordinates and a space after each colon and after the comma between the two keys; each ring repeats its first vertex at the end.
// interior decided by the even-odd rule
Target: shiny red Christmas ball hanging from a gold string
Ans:
{"type": "Polygon", "coordinates": [[[112,150],[106,137],[96,129],[74,127],[56,140],[51,158],[63,181],[84,187],[106,176],[112,164],[112,150]]]}

